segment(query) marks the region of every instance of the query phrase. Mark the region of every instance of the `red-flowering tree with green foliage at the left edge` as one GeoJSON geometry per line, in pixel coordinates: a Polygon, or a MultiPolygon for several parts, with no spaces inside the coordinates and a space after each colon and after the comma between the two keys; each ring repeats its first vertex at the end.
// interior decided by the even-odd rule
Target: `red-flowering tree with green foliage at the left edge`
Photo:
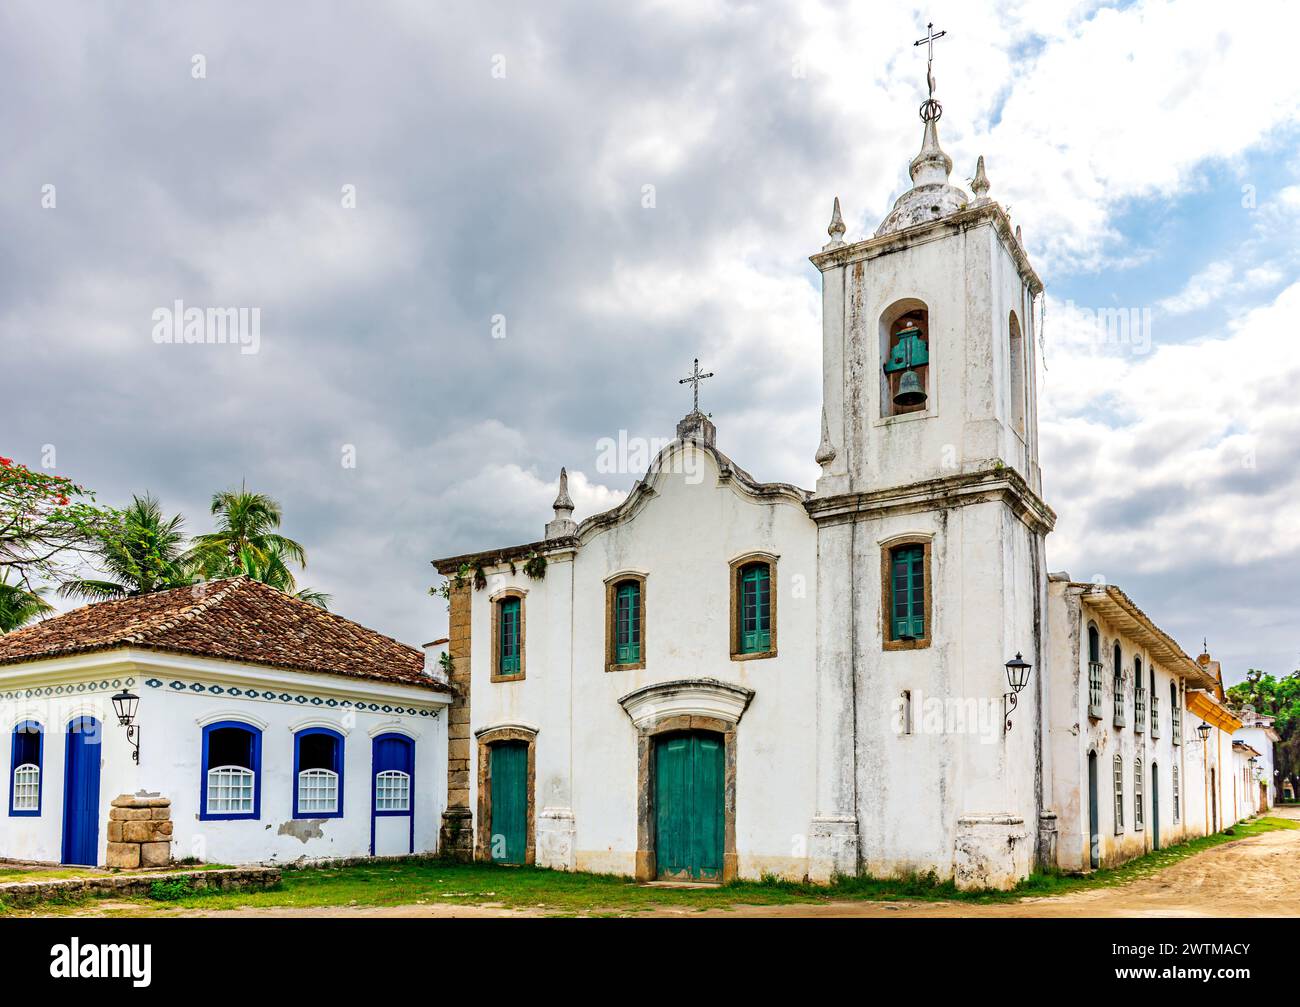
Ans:
{"type": "Polygon", "coordinates": [[[0,456],[0,580],[31,593],[62,581],[118,521],[84,486],[0,456]]]}

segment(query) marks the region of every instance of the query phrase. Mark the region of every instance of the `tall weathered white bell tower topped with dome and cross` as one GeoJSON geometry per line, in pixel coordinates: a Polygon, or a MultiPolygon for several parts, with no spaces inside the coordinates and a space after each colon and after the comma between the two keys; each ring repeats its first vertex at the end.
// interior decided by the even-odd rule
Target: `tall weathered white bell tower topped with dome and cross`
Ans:
{"type": "Polygon", "coordinates": [[[818,815],[814,873],[953,864],[1010,886],[1050,845],[1039,711],[1056,516],[1041,500],[1035,307],[1019,229],[952,185],[935,32],[911,187],[846,242],[836,199],[822,273],[818,815]],[[1011,730],[1006,663],[1034,665],[1011,730]],[[900,708],[906,716],[900,716],[900,708]],[[945,711],[970,716],[954,726],[945,711]],[[935,716],[937,713],[937,717],[935,716]],[[983,720],[982,720],[983,717],[983,720]],[[901,725],[907,725],[906,730],[901,725]]]}

